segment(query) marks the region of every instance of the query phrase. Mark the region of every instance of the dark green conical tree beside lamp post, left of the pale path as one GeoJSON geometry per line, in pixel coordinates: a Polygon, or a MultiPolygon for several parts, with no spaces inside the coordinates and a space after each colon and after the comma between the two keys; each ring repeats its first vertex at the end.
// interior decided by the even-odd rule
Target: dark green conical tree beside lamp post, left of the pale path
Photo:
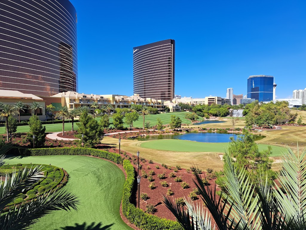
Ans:
{"type": "Polygon", "coordinates": [[[27,139],[30,141],[31,146],[33,146],[33,135],[35,135],[35,146],[43,146],[46,138],[46,126],[41,124],[37,115],[31,116],[28,124],[30,132],[27,134],[27,139]]]}

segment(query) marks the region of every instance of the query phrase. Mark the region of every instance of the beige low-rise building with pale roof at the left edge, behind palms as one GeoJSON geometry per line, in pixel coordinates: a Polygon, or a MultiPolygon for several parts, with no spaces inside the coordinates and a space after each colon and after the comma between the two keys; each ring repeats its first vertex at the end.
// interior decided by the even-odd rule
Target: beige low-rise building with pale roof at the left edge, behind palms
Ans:
{"type": "MultiPolygon", "coordinates": [[[[41,121],[46,120],[45,113],[45,101],[43,98],[35,96],[34,94],[24,94],[17,90],[0,90],[0,102],[3,102],[7,105],[14,105],[16,102],[21,101],[25,104],[26,109],[24,111],[20,111],[20,120],[25,121],[29,120],[30,117],[35,113],[34,110],[29,109],[30,105],[33,102],[39,102],[39,104],[43,107],[42,109],[37,109],[37,116],[41,121]]],[[[18,113],[15,114],[15,117],[18,120],[18,113]]],[[[0,118],[1,119],[1,118],[0,118]]],[[[2,118],[1,120],[4,120],[2,118]]]]}

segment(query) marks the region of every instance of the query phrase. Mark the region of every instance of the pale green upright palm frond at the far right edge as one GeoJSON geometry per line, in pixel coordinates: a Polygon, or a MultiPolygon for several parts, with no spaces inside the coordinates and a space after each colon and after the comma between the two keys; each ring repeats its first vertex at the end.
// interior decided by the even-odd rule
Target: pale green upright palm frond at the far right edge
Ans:
{"type": "Polygon", "coordinates": [[[297,146],[297,156],[288,145],[286,148],[282,156],[282,171],[278,177],[286,194],[276,185],[278,192],[275,197],[282,213],[287,213],[287,221],[293,217],[297,226],[306,226],[306,148],[300,154],[297,146]]]}

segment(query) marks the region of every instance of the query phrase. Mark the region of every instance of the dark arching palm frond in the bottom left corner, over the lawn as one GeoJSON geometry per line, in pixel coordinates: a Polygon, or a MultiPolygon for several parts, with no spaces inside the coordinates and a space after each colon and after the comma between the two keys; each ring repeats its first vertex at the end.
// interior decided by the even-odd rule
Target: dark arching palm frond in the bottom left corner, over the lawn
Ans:
{"type": "Polygon", "coordinates": [[[55,210],[77,210],[80,200],[67,191],[57,190],[53,193],[45,193],[34,198],[31,202],[10,210],[0,217],[0,229],[28,229],[29,226],[38,221],[39,218],[55,210]]]}

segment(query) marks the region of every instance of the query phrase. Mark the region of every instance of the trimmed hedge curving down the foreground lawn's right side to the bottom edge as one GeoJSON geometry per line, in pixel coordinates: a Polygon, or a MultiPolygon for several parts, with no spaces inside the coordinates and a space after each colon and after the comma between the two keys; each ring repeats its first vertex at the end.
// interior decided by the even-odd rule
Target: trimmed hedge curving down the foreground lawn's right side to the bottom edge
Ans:
{"type": "Polygon", "coordinates": [[[123,161],[123,168],[126,172],[126,181],[122,196],[123,215],[131,223],[143,230],[182,230],[183,227],[178,222],[150,215],[131,204],[132,188],[135,183],[135,171],[129,160],[123,161]]]}

